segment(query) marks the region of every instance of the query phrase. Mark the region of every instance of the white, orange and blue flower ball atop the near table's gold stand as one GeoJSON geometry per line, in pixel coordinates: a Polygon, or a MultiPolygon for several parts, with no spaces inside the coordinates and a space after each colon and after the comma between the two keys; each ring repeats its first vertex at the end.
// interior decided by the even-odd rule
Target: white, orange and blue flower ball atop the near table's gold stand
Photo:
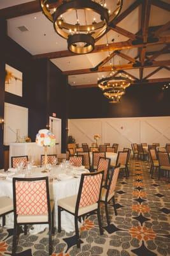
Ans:
{"type": "Polygon", "coordinates": [[[41,147],[53,147],[55,145],[55,135],[47,129],[41,129],[36,134],[36,143],[41,147]]]}

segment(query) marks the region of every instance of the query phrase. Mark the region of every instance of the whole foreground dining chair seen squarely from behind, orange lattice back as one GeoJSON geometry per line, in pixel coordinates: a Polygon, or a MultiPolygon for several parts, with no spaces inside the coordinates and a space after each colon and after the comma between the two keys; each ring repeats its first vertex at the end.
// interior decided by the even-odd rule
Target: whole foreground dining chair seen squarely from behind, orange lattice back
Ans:
{"type": "Polygon", "coordinates": [[[14,228],[12,255],[17,250],[18,227],[24,225],[48,224],[49,255],[52,254],[52,233],[54,202],[50,200],[48,177],[13,178],[14,228]]]}

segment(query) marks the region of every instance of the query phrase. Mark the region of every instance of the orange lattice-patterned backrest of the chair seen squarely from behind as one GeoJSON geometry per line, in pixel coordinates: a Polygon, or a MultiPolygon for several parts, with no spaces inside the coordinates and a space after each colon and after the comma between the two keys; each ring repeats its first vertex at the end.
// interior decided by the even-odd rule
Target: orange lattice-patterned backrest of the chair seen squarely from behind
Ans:
{"type": "Polygon", "coordinates": [[[48,177],[13,178],[13,206],[15,220],[17,215],[48,215],[50,218],[48,177]]]}

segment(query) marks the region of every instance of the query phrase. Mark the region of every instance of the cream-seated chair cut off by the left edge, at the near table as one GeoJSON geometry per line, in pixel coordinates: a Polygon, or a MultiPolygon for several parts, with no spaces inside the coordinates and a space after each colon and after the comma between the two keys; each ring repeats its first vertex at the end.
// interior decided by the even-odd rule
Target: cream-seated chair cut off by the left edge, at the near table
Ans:
{"type": "Polygon", "coordinates": [[[8,196],[0,197],[0,217],[3,218],[3,227],[5,226],[6,214],[13,212],[13,200],[8,196]]]}

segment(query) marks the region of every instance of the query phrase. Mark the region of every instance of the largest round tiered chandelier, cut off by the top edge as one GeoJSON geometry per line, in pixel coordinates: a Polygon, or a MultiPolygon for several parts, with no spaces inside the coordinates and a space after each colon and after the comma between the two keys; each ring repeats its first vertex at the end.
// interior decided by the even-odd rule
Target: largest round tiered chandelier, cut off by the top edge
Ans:
{"type": "MultiPolygon", "coordinates": [[[[58,35],[67,40],[69,51],[85,54],[93,51],[97,39],[122,9],[123,0],[116,1],[115,10],[108,10],[105,0],[40,0],[45,16],[53,22],[58,35]]],[[[112,4],[113,5],[113,4],[112,4]]]]}

